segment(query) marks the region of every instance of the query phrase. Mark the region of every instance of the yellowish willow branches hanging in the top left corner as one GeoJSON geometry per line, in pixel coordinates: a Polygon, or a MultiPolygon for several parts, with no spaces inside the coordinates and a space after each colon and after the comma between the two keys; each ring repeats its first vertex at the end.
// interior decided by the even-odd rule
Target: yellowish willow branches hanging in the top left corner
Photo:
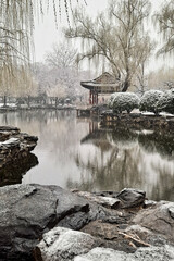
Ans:
{"type": "MultiPolygon", "coordinates": [[[[48,9],[52,8],[55,25],[58,25],[57,17],[61,15],[63,7],[69,21],[69,10],[72,9],[71,0],[0,0],[1,89],[5,83],[7,89],[11,89],[13,85],[17,86],[18,75],[28,79],[23,69],[28,66],[33,57],[34,17],[44,16],[48,9]]],[[[21,83],[20,78],[18,83],[21,83]]]]}

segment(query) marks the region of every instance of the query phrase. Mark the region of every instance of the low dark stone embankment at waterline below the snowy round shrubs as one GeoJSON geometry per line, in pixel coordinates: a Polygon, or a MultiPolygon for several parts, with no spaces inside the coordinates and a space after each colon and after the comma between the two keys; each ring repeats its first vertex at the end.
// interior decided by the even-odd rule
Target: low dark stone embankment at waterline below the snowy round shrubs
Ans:
{"type": "Polygon", "coordinates": [[[101,126],[130,126],[146,129],[174,127],[174,115],[146,115],[141,113],[113,113],[105,111],[101,114],[101,126]]]}

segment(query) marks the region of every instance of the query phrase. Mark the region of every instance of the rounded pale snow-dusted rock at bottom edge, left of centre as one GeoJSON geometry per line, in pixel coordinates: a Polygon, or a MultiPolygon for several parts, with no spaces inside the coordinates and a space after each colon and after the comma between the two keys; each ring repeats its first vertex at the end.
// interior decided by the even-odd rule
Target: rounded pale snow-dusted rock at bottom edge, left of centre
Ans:
{"type": "Polygon", "coordinates": [[[35,259],[36,261],[71,261],[98,245],[99,239],[88,234],[57,227],[44,235],[35,249],[35,259]]]}

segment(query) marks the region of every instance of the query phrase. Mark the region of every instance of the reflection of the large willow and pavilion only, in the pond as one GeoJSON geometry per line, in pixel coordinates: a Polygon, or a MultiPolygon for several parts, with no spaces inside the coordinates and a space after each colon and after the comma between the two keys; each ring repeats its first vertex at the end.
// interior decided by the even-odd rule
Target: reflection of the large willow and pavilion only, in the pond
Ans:
{"type": "Polygon", "coordinates": [[[75,156],[76,165],[80,169],[82,182],[80,185],[72,184],[69,179],[69,187],[78,187],[79,189],[92,190],[94,188],[104,190],[105,188],[112,190],[120,190],[123,187],[133,184],[137,186],[138,177],[138,164],[141,154],[137,150],[137,145],[134,140],[136,135],[117,132],[103,132],[95,130],[87,137],[82,139],[82,142],[92,141],[95,145],[96,153],[94,157],[88,154],[88,158],[77,153],[75,156]],[[117,135],[116,135],[117,134],[117,135]],[[121,138],[128,148],[120,149],[121,138]],[[128,142],[126,140],[128,139],[128,142]],[[134,142],[134,146],[129,148],[129,142],[134,142]],[[89,177],[90,173],[90,178],[89,177]],[[134,173],[134,174],[133,174],[134,173]]]}

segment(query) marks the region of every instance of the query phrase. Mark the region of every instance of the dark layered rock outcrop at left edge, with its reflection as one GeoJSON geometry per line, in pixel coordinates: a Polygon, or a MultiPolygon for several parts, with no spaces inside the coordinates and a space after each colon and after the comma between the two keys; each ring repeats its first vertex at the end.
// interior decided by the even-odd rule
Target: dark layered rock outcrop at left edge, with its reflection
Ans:
{"type": "Polygon", "coordinates": [[[0,186],[21,183],[22,175],[38,164],[30,153],[37,140],[17,127],[0,126],[0,186]]]}

